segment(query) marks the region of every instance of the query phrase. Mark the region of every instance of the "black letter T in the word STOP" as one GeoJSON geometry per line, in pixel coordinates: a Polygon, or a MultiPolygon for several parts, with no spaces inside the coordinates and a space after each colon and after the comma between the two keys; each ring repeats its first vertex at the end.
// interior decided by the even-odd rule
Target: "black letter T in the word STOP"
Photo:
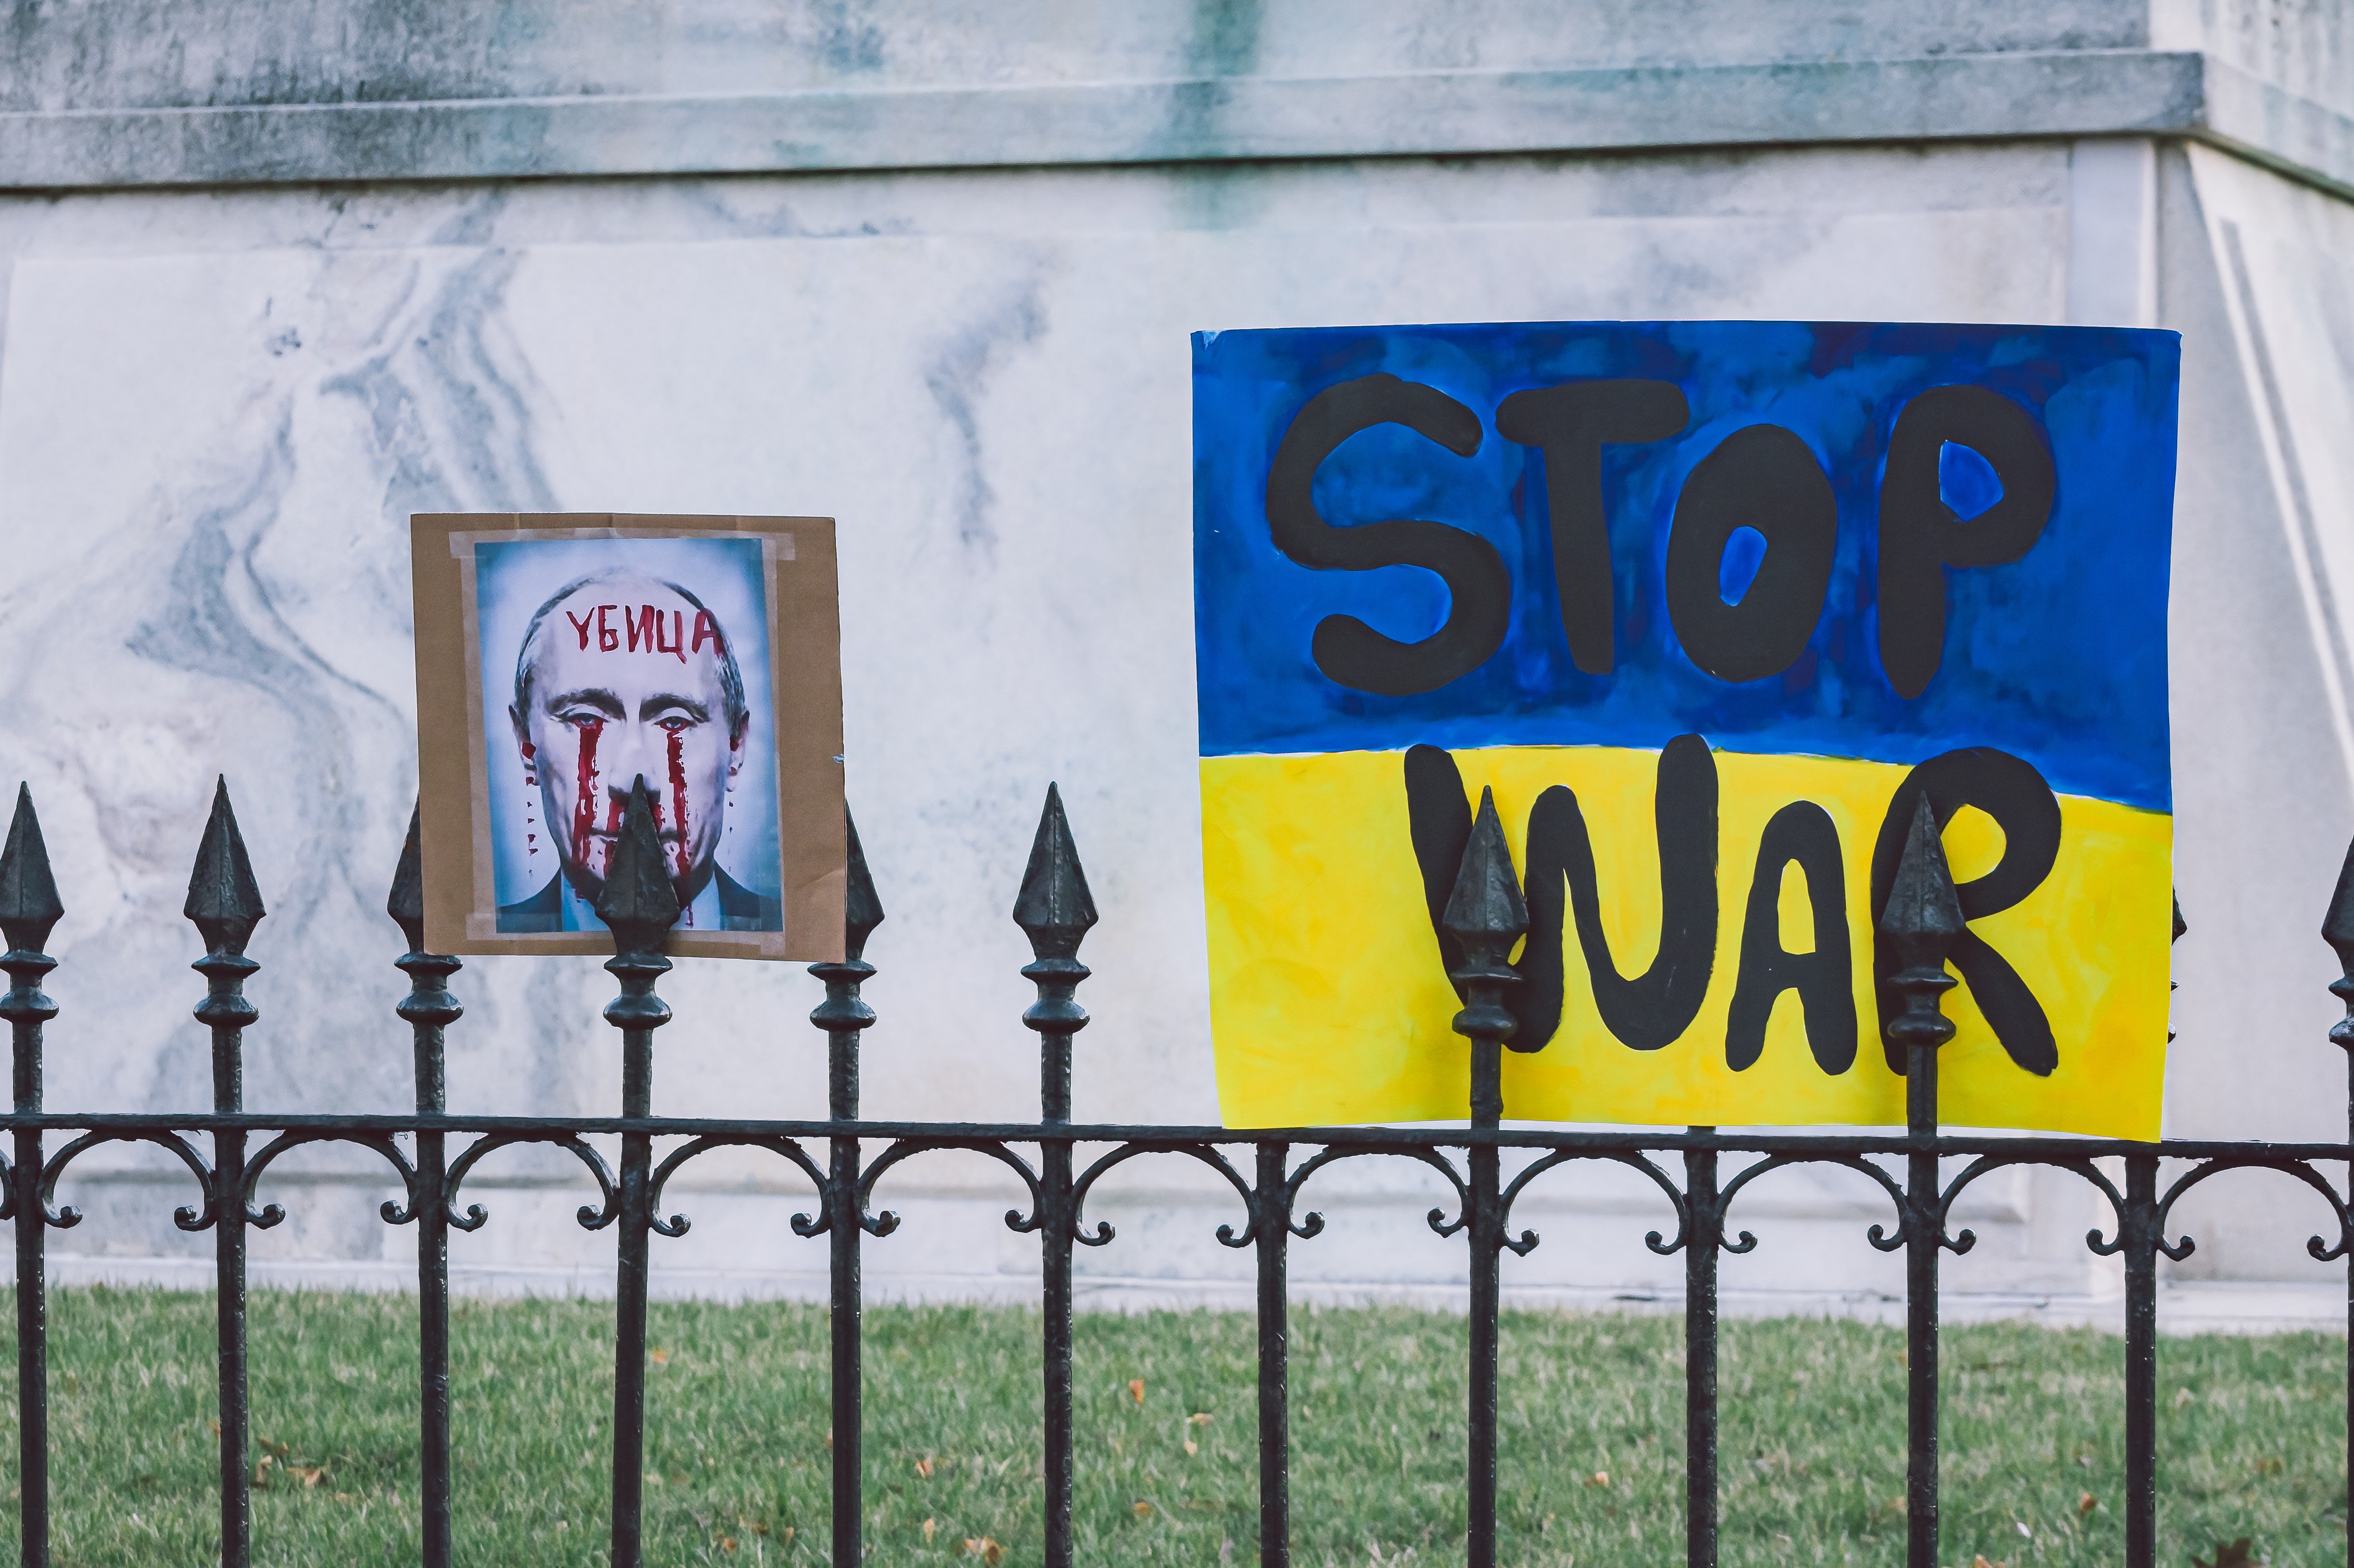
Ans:
{"type": "Polygon", "coordinates": [[[1608,676],[1612,645],[1610,518],[1603,445],[1667,440],[1693,410],[1674,381],[1563,381],[1516,391],[1495,410],[1504,440],[1544,450],[1544,511],[1554,523],[1561,636],[1589,676],[1608,676]]]}

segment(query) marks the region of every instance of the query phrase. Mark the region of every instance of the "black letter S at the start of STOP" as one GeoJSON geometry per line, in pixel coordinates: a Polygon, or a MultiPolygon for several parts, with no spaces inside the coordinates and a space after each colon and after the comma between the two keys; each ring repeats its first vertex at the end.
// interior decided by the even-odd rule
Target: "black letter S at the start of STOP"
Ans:
{"type": "Polygon", "coordinates": [[[1316,626],[1316,669],[1358,692],[1410,697],[1478,669],[1511,624],[1511,570],[1492,544],[1445,523],[1332,527],[1316,516],[1311,485],[1332,450],[1377,424],[1403,424],[1459,457],[1478,452],[1478,414],[1455,398],[1391,374],[1358,377],[1309,398],[1266,469],[1266,525],[1276,549],[1318,572],[1417,565],[1448,584],[1448,619],[1419,643],[1384,638],[1354,614],[1316,626]]]}

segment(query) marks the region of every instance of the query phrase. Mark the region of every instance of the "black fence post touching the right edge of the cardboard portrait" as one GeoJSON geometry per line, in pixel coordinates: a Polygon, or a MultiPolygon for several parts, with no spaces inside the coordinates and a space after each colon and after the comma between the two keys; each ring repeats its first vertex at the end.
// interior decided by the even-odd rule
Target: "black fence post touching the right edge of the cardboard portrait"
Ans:
{"type": "MultiPolygon", "coordinates": [[[[833,1121],[859,1118],[859,1036],[876,1022],[859,986],[876,972],[866,963],[866,937],[883,923],[866,852],[859,848],[859,824],[843,815],[847,888],[843,897],[843,961],[812,963],[810,972],[826,982],[826,1001],[810,1022],[826,1031],[826,1114],[833,1121]]],[[[826,1165],[826,1227],[833,1264],[833,1568],[857,1568],[864,1535],[864,1394],[866,1373],[859,1347],[859,1231],[866,1217],[859,1205],[859,1140],[836,1137],[826,1165]]]]}

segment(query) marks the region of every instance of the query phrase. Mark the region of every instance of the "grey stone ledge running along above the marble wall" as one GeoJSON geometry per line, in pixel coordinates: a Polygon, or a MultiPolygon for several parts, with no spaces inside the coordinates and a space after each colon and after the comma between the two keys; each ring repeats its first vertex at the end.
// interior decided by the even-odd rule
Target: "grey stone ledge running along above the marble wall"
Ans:
{"type": "Polygon", "coordinates": [[[2354,120],[2196,52],[0,115],[0,188],[2170,134],[2354,191],[2354,120]]]}

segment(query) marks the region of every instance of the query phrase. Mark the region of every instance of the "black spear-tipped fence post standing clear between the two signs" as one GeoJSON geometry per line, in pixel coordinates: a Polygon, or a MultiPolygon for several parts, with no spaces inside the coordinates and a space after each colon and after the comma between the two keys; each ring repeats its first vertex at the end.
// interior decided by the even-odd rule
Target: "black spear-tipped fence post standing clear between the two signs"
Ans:
{"type": "MultiPolygon", "coordinates": [[[[1038,986],[1038,1001],[1022,1022],[1038,1031],[1038,1111],[1045,1123],[1071,1121],[1071,1036],[1088,1026],[1088,1010],[1073,1001],[1088,965],[1078,944],[1095,925],[1095,897],[1062,815],[1062,791],[1045,786],[1045,812],[1031,841],[1015,899],[1015,925],[1031,942],[1033,963],[1022,977],[1038,986]]],[[[1071,1142],[1038,1144],[1038,1250],[1045,1307],[1045,1568],[1071,1568],[1071,1142]]]]}

